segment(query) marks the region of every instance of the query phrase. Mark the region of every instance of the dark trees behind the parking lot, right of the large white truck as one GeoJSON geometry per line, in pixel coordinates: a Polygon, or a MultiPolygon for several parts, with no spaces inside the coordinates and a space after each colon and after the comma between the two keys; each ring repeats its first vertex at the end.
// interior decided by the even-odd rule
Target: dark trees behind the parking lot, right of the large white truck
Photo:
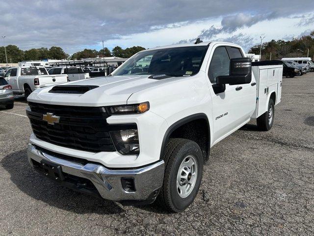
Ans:
{"type": "MultiPolygon", "coordinates": [[[[253,46],[248,53],[260,54],[260,44],[253,46]]],[[[314,31],[309,35],[293,38],[292,40],[271,40],[262,43],[261,60],[282,58],[307,57],[314,58],[314,31]]]]}

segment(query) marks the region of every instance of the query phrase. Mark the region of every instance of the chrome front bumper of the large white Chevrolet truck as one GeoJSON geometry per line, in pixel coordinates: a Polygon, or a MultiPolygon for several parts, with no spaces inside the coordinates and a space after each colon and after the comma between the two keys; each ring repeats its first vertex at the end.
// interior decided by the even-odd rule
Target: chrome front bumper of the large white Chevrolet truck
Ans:
{"type": "Polygon", "coordinates": [[[54,180],[61,185],[117,202],[152,203],[163,182],[163,160],[136,169],[107,169],[99,163],[71,160],[69,156],[66,158],[64,155],[45,151],[32,144],[27,147],[27,157],[30,165],[38,172],[43,170],[42,165],[47,162],[60,167],[63,177],[54,180]],[[122,178],[133,179],[135,191],[126,191],[122,184],[122,178]],[[84,180],[92,184],[88,184],[84,180]]]}

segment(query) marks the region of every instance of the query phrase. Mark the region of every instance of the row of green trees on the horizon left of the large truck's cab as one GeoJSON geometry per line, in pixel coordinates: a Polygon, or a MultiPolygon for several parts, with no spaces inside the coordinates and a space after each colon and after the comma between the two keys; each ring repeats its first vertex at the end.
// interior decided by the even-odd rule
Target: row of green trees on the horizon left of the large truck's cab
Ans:
{"type": "MultiPolygon", "coordinates": [[[[96,57],[119,57],[130,58],[135,53],[145,50],[140,46],[133,46],[130,48],[122,49],[116,46],[110,51],[108,48],[104,48],[97,51],[95,49],[84,49],[83,51],[76,52],[73,55],[69,55],[64,52],[60,47],[52,46],[48,48],[32,48],[29,50],[21,50],[16,45],[7,45],[5,47],[8,63],[17,63],[23,60],[42,60],[42,59],[72,59],[79,60],[82,58],[96,58],[96,57]]],[[[0,47],[0,63],[6,63],[4,47],[0,47]]]]}

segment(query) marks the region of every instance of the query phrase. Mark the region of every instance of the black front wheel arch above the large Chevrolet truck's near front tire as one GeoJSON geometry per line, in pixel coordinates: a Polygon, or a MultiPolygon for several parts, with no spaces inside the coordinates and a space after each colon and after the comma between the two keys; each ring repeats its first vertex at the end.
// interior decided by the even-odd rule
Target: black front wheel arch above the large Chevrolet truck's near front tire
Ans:
{"type": "MultiPolygon", "coordinates": [[[[201,135],[205,135],[205,139],[203,138],[203,142],[202,142],[202,143],[204,143],[204,145],[200,145],[200,142],[197,142],[195,137],[194,137],[194,139],[193,138],[187,138],[187,139],[190,139],[190,140],[196,142],[200,146],[200,148],[202,149],[204,162],[206,162],[208,160],[209,149],[210,149],[210,126],[209,126],[209,119],[208,119],[207,115],[204,113],[197,113],[197,114],[193,114],[193,115],[187,116],[185,118],[182,118],[182,119],[176,121],[175,123],[173,123],[166,130],[166,132],[163,136],[162,144],[161,144],[159,159],[163,159],[164,151],[165,151],[165,148],[166,148],[166,145],[167,145],[169,139],[171,137],[173,137],[173,135],[175,135],[176,132],[178,133],[178,131],[180,131],[180,129],[185,128],[189,124],[193,124],[193,122],[196,122],[200,125],[206,125],[207,126],[206,129],[203,128],[204,132],[201,133],[201,135]],[[201,146],[205,146],[205,147],[201,147],[201,146]]],[[[188,135],[188,134],[186,134],[186,135],[188,135]]],[[[176,137],[176,138],[178,138],[178,137],[176,137]]],[[[183,136],[181,138],[185,138],[185,137],[183,136]]]]}

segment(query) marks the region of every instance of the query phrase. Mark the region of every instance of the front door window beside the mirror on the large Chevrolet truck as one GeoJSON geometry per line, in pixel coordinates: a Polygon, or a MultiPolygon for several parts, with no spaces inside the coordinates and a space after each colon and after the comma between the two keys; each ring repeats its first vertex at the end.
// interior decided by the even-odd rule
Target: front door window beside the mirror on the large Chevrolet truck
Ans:
{"type": "Polygon", "coordinates": [[[217,76],[229,75],[230,58],[225,47],[218,47],[212,55],[208,77],[211,83],[216,83],[217,76]]]}

